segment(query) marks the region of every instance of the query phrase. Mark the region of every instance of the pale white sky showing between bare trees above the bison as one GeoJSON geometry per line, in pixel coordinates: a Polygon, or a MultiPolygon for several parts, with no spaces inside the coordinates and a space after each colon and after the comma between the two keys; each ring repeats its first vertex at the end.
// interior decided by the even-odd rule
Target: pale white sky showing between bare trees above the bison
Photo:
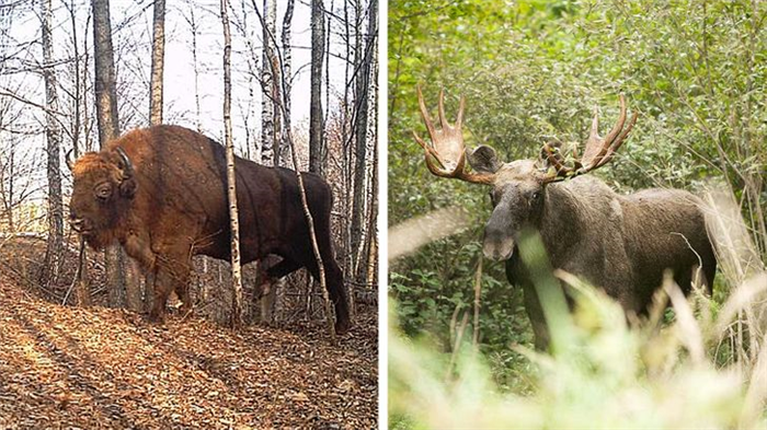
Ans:
{"type": "MultiPolygon", "coordinates": [[[[4,0],[3,0],[4,2],[4,0]]],[[[263,1],[256,0],[259,11],[263,13],[263,1]]],[[[69,0],[54,0],[54,57],[61,63],[56,67],[58,83],[67,91],[72,90],[72,75],[70,61],[72,57],[71,22],[66,5],[69,0]]],[[[277,1],[277,44],[282,47],[281,32],[286,2],[277,1]]],[[[92,49],[93,28],[92,21],[88,21],[90,1],[76,0],[75,9],[78,21],[78,45],[80,53],[83,49],[83,38],[87,38],[89,49],[89,106],[92,107],[92,49]]],[[[191,8],[194,10],[195,20],[199,27],[197,36],[197,59],[199,71],[199,101],[201,123],[203,132],[221,142],[224,138],[222,121],[222,30],[219,18],[219,1],[169,1],[165,15],[165,71],[164,71],[164,123],[182,125],[192,129],[196,128],[195,98],[194,98],[194,69],[192,57],[192,30],[187,23],[191,8]]],[[[325,4],[331,8],[331,4],[325,4]]],[[[336,5],[342,8],[342,5],[336,5]]],[[[44,104],[44,84],[42,75],[30,72],[14,72],[14,70],[30,68],[42,63],[41,23],[38,19],[38,3],[28,1],[24,7],[12,9],[10,23],[7,21],[0,25],[0,88],[11,90],[24,98],[44,104]],[[5,27],[5,28],[2,28],[5,27]],[[3,34],[8,30],[8,33],[3,34]],[[27,46],[20,49],[19,46],[27,46]],[[8,57],[8,58],[5,58],[8,57]]],[[[352,8],[350,8],[351,10],[352,8]]],[[[262,56],[262,30],[257,15],[253,12],[253,1],[245,1],[248,20],[247,32],[252,40],[257,66],[261,66],[262,56]]],[[[244,152],[245,124],[248,109],[251,111],[249,128],[251,139],[259,139],[261,133],[261,86],[257,79],[260,69],[253,70],[252,97],[249,84],[249,57],[250,53],[242,36],[242,1],[230,0],[230,20],[232,23],[232,126],[234,146],[240,153],[244,152]],[[250,103],[250,106],[249,106],[250,103]]],[[[310,13],[308,3],[297,1],[293,18],[291,45],[293,74],[296,77],[291,91],[291,121],[297,143],[308,141],[307,124],[309,118],[309,61],[310,61],[310,13]]],[[[353,13],[353,11],[350,11],[353,13]]],[[[343,16],[343,9],[341,9],[343,16]]],[[[148,0],[112,0],[111,18],[113,30],[114,58],[117,70],[118,88],[117,98],[121,113],[122,132],[136,127],[146,127],[149,124],[149,75],[151,59],[151,25],[152,2],[148,0]],[[127,113],[127,114],[126,114],[127,113]]],[[[331,112],[339,108],[334,100],[335,94],[343,94],[344,90],[344,60],[345,47],[339,36],[341,24],[333,25],[334,35],[331,37],[330,56],[330,107],[331,112]],[[334,57],[336,56],[336,57],[334,57]]],[[[252,60],[251,60],[252,63],[252,60]]],[[[353,69],[350,69],[350,79],[353,69]]],[[[323,88],[324,91],[327,89],[323,88]]],[[[325,93],[323,91],[323,105],[325,93]]],[[[69,115],[71,98],[66,92],[60,92],[59,103],[61,111],[69,115]]],[[[20,104],[20,106],[23,106],[20,104]]],[[[324,106],[323,106],[324,109],[324,106]]],[[[66,116],[65,116],[66,117],[66,116]]],[[[67,121],[67,119],[64,119],[67,121]]],[[[93,118],[95,120],[95,118],[93,118]]],[[[13,126],[15,130],[25,130],[26,136],[16,146],[30,146],[32,148],[44,147],[44,113],[35,107],[25,107],[25,113],[13,126]]],[[[0,130],[0,139],[3,132],[0,130]]],[[[71,140],[65,137],[64,151],[71,148],[71,140]]],[[[81,143],[82,144],[82,143],[81,143]]],[[[98,144],[96,144],[98,147],[98,144]]],[[[20,147],[18,150],[24,151],[20,147]]],[[[43,172],[41,172],[43,173],[43,172]]],[[[65,175],[68,176],[68,175],[65,175]]],[[[42,177],[42,176],[41,176],[42,177]]],[[[65,179],[65,183],[68,183],[65,179]]]]}

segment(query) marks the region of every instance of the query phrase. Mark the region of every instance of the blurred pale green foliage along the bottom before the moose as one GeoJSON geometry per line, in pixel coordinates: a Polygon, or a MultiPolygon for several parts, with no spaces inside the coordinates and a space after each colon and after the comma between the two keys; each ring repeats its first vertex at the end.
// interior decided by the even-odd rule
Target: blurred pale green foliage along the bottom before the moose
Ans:
{"type": "MultiPolygon", "coordinates": [[[[540,370],[530,372],[531,385],[526,393],[499,390],[482,356],[470,345],[459,350],[453,369],[451,361],[435,352],[428,341],[412,340],[391,327],[390,428],[767,426],[765,416],[755,408],[764,402],[764,394],[753,394],[759,392],[760,365],[765,363],[751,371],[740,367],[718,371],[713,363],[692,353],[710,341],[706,334],[716,337],[712,328],[722,322],[702,327],[678,323],[661,333],[652,327],[630,330],[615,301],[591,287],[577,288],[582,293],[576,298],[575,323],[552,328],[562,332],[552,336],[562,341],[554,346],[556,352],[547,356],[518,350],[540,370]]],[[[678,305],[688,306],[684,301],[678,305]]]]}

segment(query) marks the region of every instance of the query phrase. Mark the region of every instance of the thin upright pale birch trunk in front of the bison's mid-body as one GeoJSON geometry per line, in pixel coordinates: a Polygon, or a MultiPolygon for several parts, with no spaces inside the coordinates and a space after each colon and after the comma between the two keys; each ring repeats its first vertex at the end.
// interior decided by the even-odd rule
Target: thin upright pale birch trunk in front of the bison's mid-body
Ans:
{"type": "Polygon", "coordinates": [[[224,24],[224,139],[227,152],[227,196],[231,224],[231,284],[233,290],[231,326],[242,325],[242,272],[240,267],[240,223],[237,210],[237,176],[234,172],[234,146],[231,137],[231,35],[229,33],[228,1],[221,0],[224,24]]]}

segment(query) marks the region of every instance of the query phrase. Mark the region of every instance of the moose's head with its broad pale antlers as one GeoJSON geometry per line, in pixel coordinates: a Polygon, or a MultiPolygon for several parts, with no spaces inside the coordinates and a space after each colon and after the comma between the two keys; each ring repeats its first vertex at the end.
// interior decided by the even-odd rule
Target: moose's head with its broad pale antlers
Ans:
{"type": "MultiPolygon", "coordinates": [[[[495,260],[508,259],[514,253],[517,235],[526,226],[538,226],[547,210],[547,184],[582,175],[609,162],[637,121],[637,114],[626,121],[626,100],[620,95],[620,115],[610,132],[598,136],[599,121],[595,109],[586,150],[572,165],[559,152],[557,142],[543,144],[538,160],[516,160],[504,163],[497,159],[495,150],[480,146],[469,152],[463,144],[461,126],[466,102],[460,100],[455,125],[445,118],[445,93],[439,92],[439,124],[437,129],[432,121],[417,89],[421,116],[431,142],[421,139],[415,132],[415,141],[424,149],[426,166],[436,176],[458,178],[474,184],[492,186],[490,191],[493,213],[484,229],[483,253],[495,260]],[[472,171],[467,171],[466,162],[472,171]]],[[[556,208],[554,208],[556,209],[556,208]]]]}

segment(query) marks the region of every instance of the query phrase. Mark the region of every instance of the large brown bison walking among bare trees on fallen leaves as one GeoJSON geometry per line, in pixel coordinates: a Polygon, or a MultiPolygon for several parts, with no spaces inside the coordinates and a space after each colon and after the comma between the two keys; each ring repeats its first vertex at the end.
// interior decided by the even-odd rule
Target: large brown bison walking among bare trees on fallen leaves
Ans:
{"type": "MultiPolygon", "coordinates": [[[[154,274],[151,319],[162,319],[172,290],[182,310],[188,310],[192,256],[230,258],[224,147],[183,127],[154,126],[130,131],[76,162],[68,155],[67,162],[73,177],[72,229],[94,248],[119,242],[154,274]]],[[[234,165],[242,263],[273,254],[282,260],[267,270],[271,278],[301,267],[318,278],[296,172],[240,158],[234,165]]],[[[301,175],[335,306],[335,329],[345,333],[351,322],[343,274],[333,256],[331,189],[318,175],[301,175]]]]}

